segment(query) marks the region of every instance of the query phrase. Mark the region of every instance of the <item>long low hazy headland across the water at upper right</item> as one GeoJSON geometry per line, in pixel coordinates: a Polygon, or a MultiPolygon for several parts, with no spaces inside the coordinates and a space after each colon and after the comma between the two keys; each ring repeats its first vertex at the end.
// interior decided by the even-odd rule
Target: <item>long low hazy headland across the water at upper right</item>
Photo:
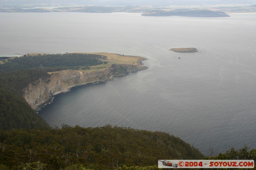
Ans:
{"type": "Polygon", "coordinates": [[[152,10],[142,14],[143,16],[187,16],[187,17],[230,17],[225,12],[212,10],[152,10]]]}

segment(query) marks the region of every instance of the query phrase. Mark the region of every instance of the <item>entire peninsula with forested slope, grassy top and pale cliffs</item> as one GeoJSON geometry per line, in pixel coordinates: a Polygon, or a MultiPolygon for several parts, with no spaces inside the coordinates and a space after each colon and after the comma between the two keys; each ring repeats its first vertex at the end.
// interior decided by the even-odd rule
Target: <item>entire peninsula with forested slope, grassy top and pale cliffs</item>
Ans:
{"type": "Polygon", "coordinates": [[[73,86],[114,80],[114,76],[145,70],[142,60],[146,58],[111,53],[2,57],[0,105],[6,107],[0,109],[0,129],[49,127],[35,110],[50,102],[52,95],[67,92],[73,86]]]}

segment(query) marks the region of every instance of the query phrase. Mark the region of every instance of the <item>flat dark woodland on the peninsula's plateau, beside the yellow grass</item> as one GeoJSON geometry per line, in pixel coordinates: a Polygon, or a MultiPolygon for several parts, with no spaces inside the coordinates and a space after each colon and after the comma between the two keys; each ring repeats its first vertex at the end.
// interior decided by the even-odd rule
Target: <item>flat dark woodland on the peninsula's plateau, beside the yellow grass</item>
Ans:
{"type": "Polygon", "coordinates": [[[59,71],[65,69],[78,70],[78,66],[92,66],[102,64],[100,59],[106,59],[105,55],[65,53],[65,54],[38,54],[24,55],[7,59],[0,64],[0,72],[21,70],[28,68],[44,68],[47,71],[59,71]]]}

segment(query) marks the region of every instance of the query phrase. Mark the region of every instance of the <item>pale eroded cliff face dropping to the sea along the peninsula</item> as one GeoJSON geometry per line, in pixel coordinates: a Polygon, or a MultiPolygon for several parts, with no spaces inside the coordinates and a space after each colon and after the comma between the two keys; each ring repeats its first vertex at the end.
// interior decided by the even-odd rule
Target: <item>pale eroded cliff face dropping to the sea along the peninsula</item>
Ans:
{"type": "Polygon", "coordinates": [[[104,71],[84,72],[79,70],[62,70],[52,73],[49,78],[40,78],[29,84],[23,91],[23,97],[36,110],[52,95],[67,92],[71,87],[85,85],[95,81],[110,80],[112,76],[122,75],[132,71],[145,70],[143,65],[120,64],[109,67],[104,71]]]}

